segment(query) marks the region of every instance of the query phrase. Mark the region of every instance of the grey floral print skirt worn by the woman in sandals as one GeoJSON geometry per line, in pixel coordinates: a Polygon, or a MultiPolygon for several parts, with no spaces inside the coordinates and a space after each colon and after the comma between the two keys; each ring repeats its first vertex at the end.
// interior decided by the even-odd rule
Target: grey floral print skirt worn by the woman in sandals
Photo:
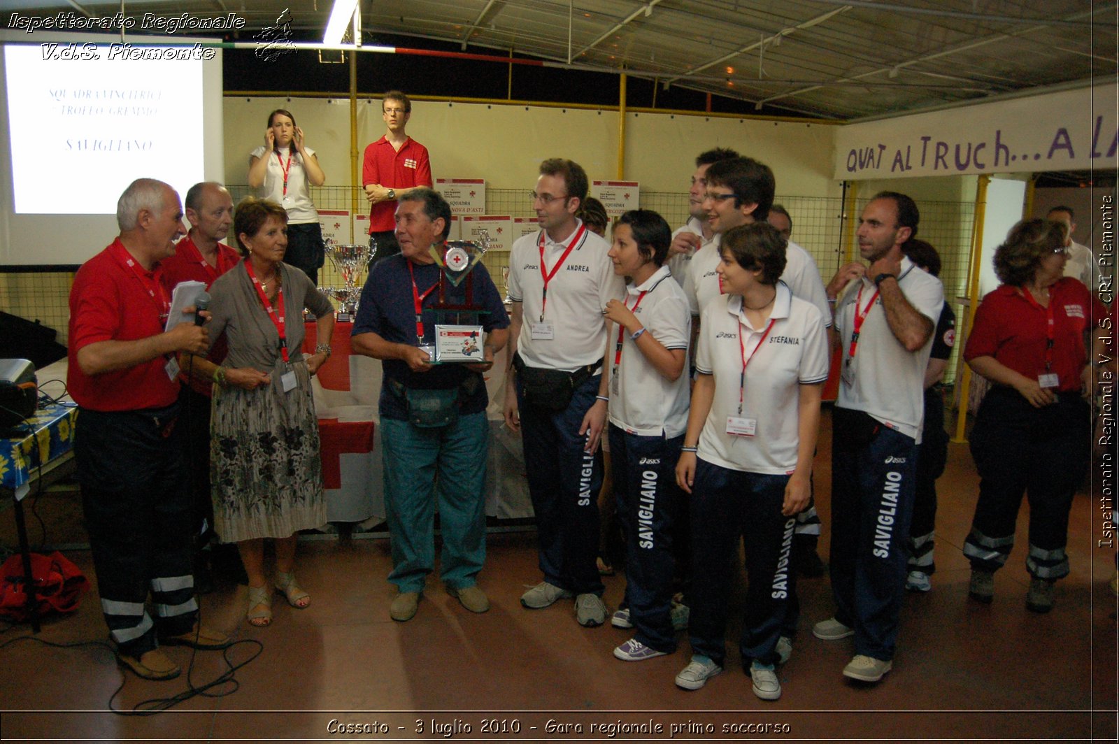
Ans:
{"type": "Polygon", "coordinates": [[[255,390],[214,386],[210,483],[214,522],[224,543],[289,537],[327,521],[319,423],[307,364],[291,365],[297,386],[279,375],[255,390]]]}

